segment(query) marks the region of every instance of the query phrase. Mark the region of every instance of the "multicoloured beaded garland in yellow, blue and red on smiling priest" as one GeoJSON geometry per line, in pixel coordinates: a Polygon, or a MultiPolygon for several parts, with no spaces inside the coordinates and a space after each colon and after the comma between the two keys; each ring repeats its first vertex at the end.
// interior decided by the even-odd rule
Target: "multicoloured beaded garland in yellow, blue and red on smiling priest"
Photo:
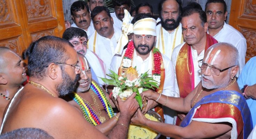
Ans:
{"type": "MultiPolygon", "coordinates": [[[[109,101],[107,100],[105,94],[103,93],[103,91],[101,90],[101,88],[92,81],[90,88],[93,90],[93,92],[98,96],[98,98],[100,99],[105,111],[107,112],[109,118],[112,118],[114,115],[113,112],[113,108],[111,107],[109,101]]],[[[85,119],[90,122],[93,125],[98,125],[101,124],[98,116],[95,114],[95,112],[93,111],[93,109],[86,104],[83,99],[76,93],[73,92],[70,94],[70,97],[76,101],[76,103],[80,106],[80,108],[83,111],[84,117],[85,119]]]]}

